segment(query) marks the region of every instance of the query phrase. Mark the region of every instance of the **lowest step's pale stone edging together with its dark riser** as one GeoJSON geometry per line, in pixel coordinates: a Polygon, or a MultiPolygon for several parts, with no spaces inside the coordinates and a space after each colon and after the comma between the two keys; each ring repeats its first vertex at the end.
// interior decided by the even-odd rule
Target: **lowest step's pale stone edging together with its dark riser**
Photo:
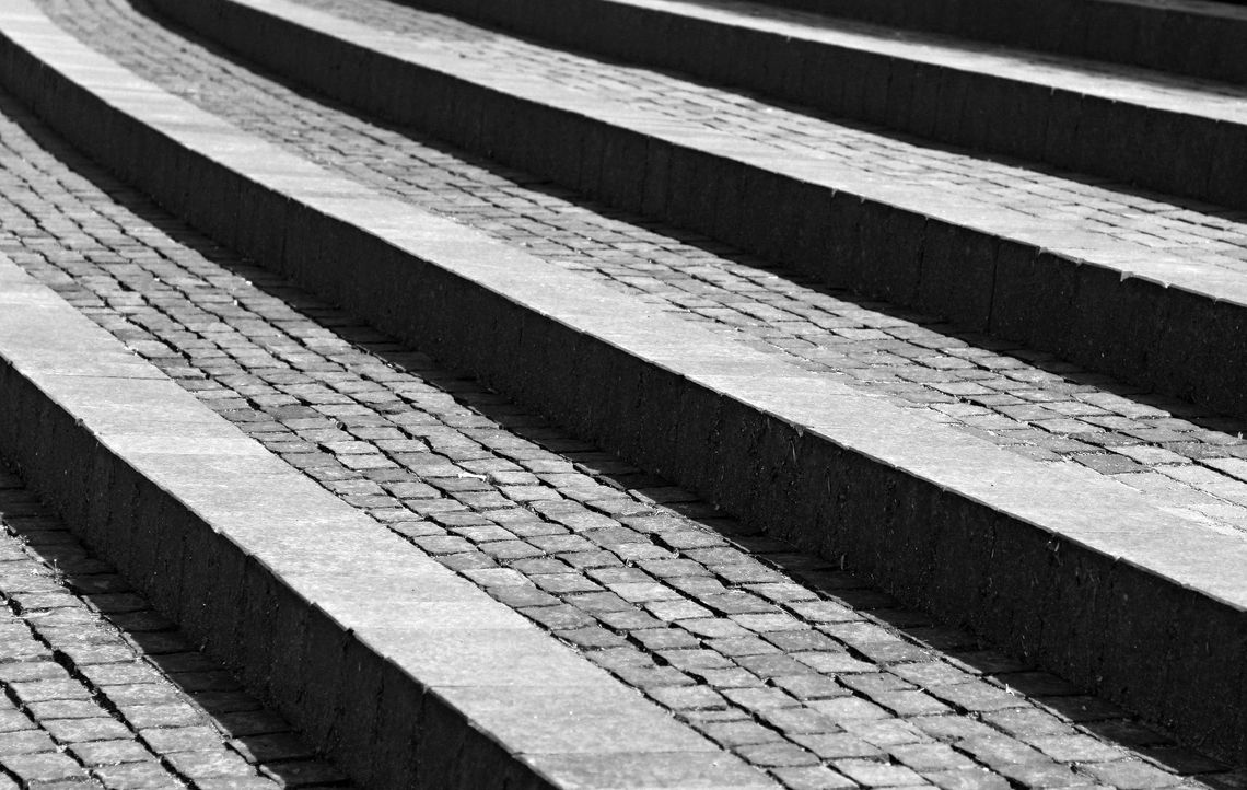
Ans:
{"type": "MultiPolygon", "coordinates": [[[[39,35],[22,16],[6,9],[5,30],[39,35]]],[[[776,786],[242,434],[4,256],[0,307],[0,443],[359,786],[776,786]]]]}

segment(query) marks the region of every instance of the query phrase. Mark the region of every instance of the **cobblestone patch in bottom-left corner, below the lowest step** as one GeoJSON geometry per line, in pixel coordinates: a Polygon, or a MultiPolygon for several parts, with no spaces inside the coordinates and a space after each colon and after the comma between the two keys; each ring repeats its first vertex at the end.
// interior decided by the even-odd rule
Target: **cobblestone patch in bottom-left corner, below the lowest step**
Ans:
{"type": "Polygon", "coordinates": [[[348,785],[0,466],[0,789],[330,786],[348,785]]]}

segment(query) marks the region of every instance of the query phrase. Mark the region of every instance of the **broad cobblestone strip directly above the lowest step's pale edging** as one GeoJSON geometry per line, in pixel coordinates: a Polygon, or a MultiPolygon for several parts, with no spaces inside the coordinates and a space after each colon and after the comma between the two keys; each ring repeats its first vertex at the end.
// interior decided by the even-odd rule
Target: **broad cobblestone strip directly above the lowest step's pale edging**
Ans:
{"type": "Polygon", "coordinates": [[[0,251],[413,552],[784,786],[1247,786],[438,369],[162,215],[2,95],[0,112],[0,251]]]}

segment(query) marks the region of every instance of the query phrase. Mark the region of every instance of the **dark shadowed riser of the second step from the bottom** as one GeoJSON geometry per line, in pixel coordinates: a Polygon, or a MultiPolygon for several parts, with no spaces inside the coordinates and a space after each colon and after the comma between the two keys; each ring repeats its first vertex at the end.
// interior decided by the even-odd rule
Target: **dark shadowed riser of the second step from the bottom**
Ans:
{"type": "MultiPolygon", "coordinates": [[[[1247,705],[1226,703],[1227,689],[1241,696],[1245,688],[1247,618],[1240,609],[576,332],[118,120],[92,96],[65,87],[59,74],[4,49],[0,76],[10,90],[223,243],[737,517],[843,559],[904,600],[1034,655],[1210,750],[1247,756],[1247,705]],[[132,142],[120,145],[125,140],[132,142]]],[[[79,469],[42,474],[94,479],[79,469]]],[[[219,612],[228,609],[222,602],[219,612]]],[[[256,633],[266,628],[297,630],[257,623],[256,633]]],[[[277,654],[261,655],[272,665],[277,654]]],[[[308,729],[342,733],[349,725],[313,714],[308,729]]]]}

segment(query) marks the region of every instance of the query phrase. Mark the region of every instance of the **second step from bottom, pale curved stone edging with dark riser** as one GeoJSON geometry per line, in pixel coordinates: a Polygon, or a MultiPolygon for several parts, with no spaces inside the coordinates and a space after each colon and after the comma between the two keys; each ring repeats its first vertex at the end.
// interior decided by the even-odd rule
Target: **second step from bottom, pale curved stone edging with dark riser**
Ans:
{"type": "Polygon", "coordinates": [[[222,242],[914,605],[1247,754],[1243,542],[372,196],[32,10],[0,31],[4,81],[36,112],[222,242]]]}

